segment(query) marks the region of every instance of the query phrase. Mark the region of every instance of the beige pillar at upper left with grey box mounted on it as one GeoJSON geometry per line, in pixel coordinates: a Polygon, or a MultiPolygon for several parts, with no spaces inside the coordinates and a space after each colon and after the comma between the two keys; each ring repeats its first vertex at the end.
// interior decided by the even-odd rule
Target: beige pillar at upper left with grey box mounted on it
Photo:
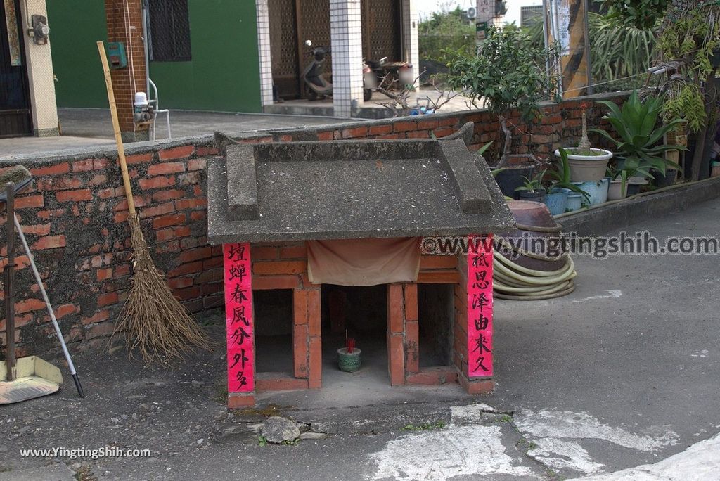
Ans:
{"type": "MultiPolygon", "coordinates": [[[[45,7],[45,0],[25,1],[24,8],[20,9],[20,14],[24,25],[32,24],[31,19],[28,18],[29,15],[47,17],[48,10],[45,7]]],[[[52,24],[52,22],[53,19],[48,19],[48,24],[52,24]]],[[[55,103],[55,76],[53,75],[53,56],[50,53],[50,40],[48,40],[48,43],[37,45],[32,37],[27,35],[27,32],[20,33],[25,41],[33,131],[36,137],[59,135],[58,107],[55,103]]],[[[52,33],[50,33],[50,37],[52,36],[52,33]]]]}

